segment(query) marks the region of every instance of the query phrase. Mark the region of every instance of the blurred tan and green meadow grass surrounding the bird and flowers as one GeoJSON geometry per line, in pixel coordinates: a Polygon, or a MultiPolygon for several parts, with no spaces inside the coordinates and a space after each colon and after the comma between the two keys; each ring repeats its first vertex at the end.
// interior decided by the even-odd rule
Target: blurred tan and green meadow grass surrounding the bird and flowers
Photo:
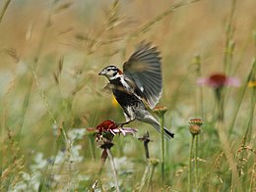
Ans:
{"type": "Polygon", "coordinates": [[[255,191],[255,6],[1,1],[0,191],[255,191]],[[124,117],[97,73],[142,40],[160,49],[160,120],[175,138],[135,121],[102,148],[90,130],[124,117]],[[197,83],[217,73],[240,86],[197,83]]]}

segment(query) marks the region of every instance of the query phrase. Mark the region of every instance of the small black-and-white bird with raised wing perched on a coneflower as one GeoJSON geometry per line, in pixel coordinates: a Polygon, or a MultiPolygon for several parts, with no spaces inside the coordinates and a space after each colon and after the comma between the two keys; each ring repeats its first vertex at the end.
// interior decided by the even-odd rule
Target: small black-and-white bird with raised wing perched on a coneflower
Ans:
{"type": "MultiPolygon", "coordinates": [[[[110,81],[108,87],[124,111],[127,124],[141,120],[153,125],[160,132],[160,122],[147,110],[156,107],[162,92],[160,52],[151,43],[142,42],[129,60],[123,65],[123,72],[115,66],[104,68],[99,75],[110,81]]],[[[174,134],[164,127],[164,134],[173,138],[174,134]]]]}

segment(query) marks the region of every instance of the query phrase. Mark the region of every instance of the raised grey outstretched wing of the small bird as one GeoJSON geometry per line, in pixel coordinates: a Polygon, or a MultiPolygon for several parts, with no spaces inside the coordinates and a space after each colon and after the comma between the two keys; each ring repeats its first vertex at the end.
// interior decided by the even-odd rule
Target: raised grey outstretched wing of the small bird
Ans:
{"type": "Polygon", "coordinates": [[[162,79],[160,52],[151,43],[139,44],[130,59],[124,63],[124,77],[135,85],[134,92],[145,99],[151,109],[160,100],[162,79]]]}

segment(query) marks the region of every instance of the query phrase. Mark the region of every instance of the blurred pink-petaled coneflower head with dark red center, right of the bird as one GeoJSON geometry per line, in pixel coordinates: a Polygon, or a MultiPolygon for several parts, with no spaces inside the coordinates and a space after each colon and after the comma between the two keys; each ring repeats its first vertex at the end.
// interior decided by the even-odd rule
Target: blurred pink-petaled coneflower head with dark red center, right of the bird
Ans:
{"type": "Polygon", "coordinates": [[[201,77],[197,80],[197,83],[200,85],[208,85],[213,88],[240,85],[240,81],[237,78],[227,77],[224,73],[214,73],[207,78],[201,77]]]}

